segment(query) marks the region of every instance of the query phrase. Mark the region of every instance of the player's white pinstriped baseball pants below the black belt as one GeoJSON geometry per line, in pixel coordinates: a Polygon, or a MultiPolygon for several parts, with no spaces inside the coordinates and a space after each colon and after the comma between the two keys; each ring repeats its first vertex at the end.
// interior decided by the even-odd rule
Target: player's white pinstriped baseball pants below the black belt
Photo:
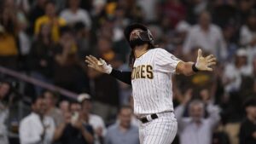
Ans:
{"type": "Polygon", "coordinates": [[[159,118],[148,123],[140,123],[141,144],[172,144],[177,134],[177,120],[173,112],[157,114],[159,118]]]}

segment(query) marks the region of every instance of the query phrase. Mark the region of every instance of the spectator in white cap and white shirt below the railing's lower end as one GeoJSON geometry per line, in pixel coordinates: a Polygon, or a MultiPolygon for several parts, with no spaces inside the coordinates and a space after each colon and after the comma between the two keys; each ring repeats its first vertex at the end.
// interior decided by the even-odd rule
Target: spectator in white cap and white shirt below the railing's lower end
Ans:
{"type": "Polygon", "coordinates": [[[94,144],[103,144],[104,136],[106,135],[106,127],[103,119],[91,113],[92,104],[90,95],[83,93],[78,96],[78,101],[82,105],[84,116],[88,119],[88,123],[94,130],[94,144]]]}

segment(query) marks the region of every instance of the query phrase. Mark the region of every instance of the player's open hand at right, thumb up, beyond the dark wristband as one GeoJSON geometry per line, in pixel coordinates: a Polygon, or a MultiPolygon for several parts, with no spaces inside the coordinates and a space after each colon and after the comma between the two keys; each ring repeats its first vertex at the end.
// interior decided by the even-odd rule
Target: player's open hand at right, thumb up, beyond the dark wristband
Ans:
{"type": "Polygon", "coordinates": [[[216,65],[216,60],[217,59],[213,55],[203,57],[201,49],[198,49],[195,67],[200,71],[212,71],[211,66],[216,65]]]}

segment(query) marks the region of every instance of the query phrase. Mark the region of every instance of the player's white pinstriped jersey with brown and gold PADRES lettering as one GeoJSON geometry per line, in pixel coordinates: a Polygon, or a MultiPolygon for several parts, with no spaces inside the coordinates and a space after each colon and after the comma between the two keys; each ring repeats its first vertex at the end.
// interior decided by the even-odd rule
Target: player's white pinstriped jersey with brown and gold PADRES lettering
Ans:
{"type": "Polygon", "coordinates": [[[173,111],[172,74],[180,61],[160,48],[135,60],[131,73],[135,114],[173,111]]]}

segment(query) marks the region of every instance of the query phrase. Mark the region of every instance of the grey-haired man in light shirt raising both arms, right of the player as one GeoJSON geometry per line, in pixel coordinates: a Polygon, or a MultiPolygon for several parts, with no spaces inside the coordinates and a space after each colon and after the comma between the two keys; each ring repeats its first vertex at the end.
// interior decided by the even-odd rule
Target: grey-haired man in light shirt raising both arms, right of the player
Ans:
{"type": "Polygon", "coordinates": [[[205,118],[203,101],[194,100],[189,103],[192,96],[190,94],[185,95],[183,103],[175,110],[180,143],[211,144],[213,130],[220,120],[218,107],[208,103],[207,112],[209,116],[205,118]],[[189,105],[189,117],[183,118],[183,112],[187,105],[189,105]]]}

